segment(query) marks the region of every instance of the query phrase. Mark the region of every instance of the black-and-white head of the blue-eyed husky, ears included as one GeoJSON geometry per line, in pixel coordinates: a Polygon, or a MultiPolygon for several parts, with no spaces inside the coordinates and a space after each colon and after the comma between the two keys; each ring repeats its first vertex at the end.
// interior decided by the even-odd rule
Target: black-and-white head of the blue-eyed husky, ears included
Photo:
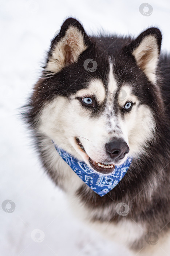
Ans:
{"type": "Polygon", "coordinates": [[[161,38],[157,28],[133,40],[89,37],[67,19],[33,93],[37,131],[101,173],[143,154],[156,129],[161,38]]]}

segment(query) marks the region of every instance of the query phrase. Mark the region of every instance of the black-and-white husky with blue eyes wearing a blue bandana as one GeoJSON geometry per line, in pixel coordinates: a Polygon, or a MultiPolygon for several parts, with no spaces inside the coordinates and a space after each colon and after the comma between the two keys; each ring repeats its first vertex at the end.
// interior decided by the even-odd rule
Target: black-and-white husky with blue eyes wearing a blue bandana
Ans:
{"type": "Polygon", "coordinates": [[[161,40],[155,27],[137,38],[89,36],[66,19],[24,110],[75,214],[132,255],[170,253],[170,55],[161,40]]]}

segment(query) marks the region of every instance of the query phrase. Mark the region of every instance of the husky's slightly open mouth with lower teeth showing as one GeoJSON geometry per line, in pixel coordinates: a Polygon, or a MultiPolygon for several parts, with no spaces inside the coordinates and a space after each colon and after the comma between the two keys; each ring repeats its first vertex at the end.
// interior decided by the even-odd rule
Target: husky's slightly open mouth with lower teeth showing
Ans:
{"type": "Polygon", "coordinates": [[[84,149],[82,143],[80,142],[80,140],[75,137],[75,140],[76,140],[76,144],[78,145],[79,149],[81,151],[83,151],[83,153],[86,154],[86,156],[88,157],[88,162],[90,164],[90,166],[96,171],[96,172],[99,172],[99,173],[102,173],[102,174],[108,174],[108,173],[112,173],[115,169],[115,166],[114,164],[112,163],[109,163],[109,164],[106,164],[106,163],[102,163],[102,162],[95,162],[94,160],[92,160],[86,153],[86,150],[84,149]]]}

